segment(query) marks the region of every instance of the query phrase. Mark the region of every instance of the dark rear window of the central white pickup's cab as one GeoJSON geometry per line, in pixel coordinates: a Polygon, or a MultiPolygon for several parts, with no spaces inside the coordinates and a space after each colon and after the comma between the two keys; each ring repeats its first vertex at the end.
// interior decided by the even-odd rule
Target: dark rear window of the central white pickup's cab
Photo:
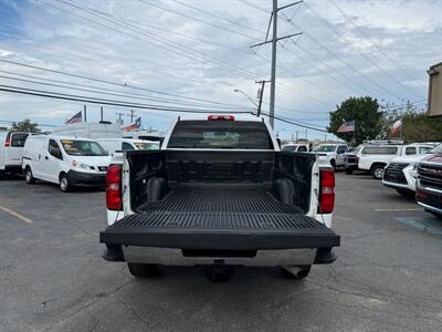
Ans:
{"type": "Polygon", "coordinates": [[[273,144],[262,122],[181,121],[175,126],[168,147],[273,149],[273,144]]]}

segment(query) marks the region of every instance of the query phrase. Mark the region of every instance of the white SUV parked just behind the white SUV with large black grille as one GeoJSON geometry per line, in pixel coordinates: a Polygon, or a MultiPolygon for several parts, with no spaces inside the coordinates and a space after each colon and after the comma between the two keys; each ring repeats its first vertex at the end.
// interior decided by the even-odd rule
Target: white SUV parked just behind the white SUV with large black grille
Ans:
{"type": "Polygon", "coordinates": [[[369,172],[373,178],[382,179],[383,170],[392,158],[415,155],[428,151],[427,144],[368,144],[358,152],[358,169],[369,172]]]}

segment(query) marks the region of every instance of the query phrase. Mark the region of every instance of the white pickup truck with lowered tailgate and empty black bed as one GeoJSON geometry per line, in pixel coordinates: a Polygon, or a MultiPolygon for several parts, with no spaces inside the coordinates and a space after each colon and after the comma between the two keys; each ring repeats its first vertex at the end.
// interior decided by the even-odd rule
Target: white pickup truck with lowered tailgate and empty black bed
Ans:
{"type": "Polygon", "coordinates": [[[178,118],[160,151],[125,152],[108,167],[103,257],[135,277],[173,264],[204,266],[212,281],[234,266],[305,278],[340,242],[334,170],[316,158],[281,152],[263,118],[178,118]]]}

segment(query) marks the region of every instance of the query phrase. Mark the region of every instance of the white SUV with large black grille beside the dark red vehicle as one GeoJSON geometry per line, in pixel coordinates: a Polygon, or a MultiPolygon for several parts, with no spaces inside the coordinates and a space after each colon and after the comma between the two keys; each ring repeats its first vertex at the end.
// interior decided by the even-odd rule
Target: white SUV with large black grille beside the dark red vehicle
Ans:
{"type": "Polygon", "coordinates": [[[412,148],[415,148],[415,155],[392,158],[383,172],[382,184],[403,196],[414,196],[418,165],[428,154],[432,154],[434,144],[408,146],[406,153],[414,152],[412,148]]]}

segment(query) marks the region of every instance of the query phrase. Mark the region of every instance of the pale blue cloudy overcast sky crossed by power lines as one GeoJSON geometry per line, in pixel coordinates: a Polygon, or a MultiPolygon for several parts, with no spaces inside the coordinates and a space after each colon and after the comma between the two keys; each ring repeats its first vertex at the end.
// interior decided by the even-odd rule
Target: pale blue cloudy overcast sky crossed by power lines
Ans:
{"type": "MultiPolygon", "coordinates": [[[[252,102],[234,90],[257,102],[254,81],[270,77],[271,45],[255,53],[249,46],[264,41],[271,3],[0,0],[0,84],[126,103],[249,111],[252,102]]],[[[288,3],[280,0],[280,7],[288,3]]],[[[306,0],[282,10],[277,20],[278,37],[303,34],[280,42],[276,115],[325,128],[328,112],[349,96],[425,107],[425,71],[442,61],[442,0],[306,0]]],[[[29,117],[62,125],[83,104],[0,92],[0,121],[29,117]]],[[[87,107],[88,120],[98,120],[99,105],[87,107]]],[[[113,122],[116,113],[129,111],[104,110],[113,122]]],[[[180,115],[135,110],[145,127],[158,129],[180,115]]],[[[282,137],[305,135],[304,128],[278,121],[275,129],[282,137]]],[[[308,137],[324,133],[308,131],[308,137]]]]}

